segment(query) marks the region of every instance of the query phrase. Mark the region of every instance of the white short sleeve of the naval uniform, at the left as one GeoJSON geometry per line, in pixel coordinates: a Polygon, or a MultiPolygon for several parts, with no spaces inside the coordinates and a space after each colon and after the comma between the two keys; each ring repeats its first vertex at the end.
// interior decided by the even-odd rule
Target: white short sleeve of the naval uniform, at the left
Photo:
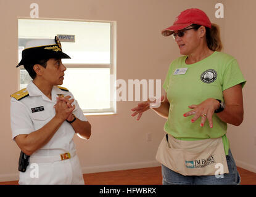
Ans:
{"type": "Polygon", "coordinates": [[[33,122],[25,106],[15,98],[10,100],[10,127],[12,140],[20,134],[30,134],[34,131],[33,122]]]}

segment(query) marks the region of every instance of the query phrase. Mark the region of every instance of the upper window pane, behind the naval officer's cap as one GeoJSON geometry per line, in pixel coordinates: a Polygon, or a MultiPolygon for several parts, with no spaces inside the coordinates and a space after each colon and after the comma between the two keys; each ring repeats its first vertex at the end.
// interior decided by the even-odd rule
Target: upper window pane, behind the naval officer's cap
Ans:
{"type": "Polygon", "coordinates": [[[19,19],[20,47],[28,39],[54,39],[57,34],[75,35],[75,42],[61,42],[71,57],[63,63],[110,63],[110,23],[19,19]]]}

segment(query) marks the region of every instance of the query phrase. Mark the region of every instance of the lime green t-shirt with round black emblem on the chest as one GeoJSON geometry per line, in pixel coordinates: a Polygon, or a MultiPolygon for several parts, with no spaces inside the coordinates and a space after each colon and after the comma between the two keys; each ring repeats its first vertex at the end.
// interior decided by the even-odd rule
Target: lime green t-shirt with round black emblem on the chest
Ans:
{"type": "Polygon", "coordinates": [[[170,103],[168,119],[164,130],[179,140],[202,140],[222,137],[225,153],[228,155],[229,142],[226,137],[227,124],[213,114],[213,128],[208,119],[204,127],[200,127],[200,118],[191,123],[194,115],[184,117],[191,111],[189,105],[198,105],[207,98],[223,101],[223,90],[237,84],[244,84],[244,79],[237,61],[231,55],[213,52],[204,60],[187,65],[187,56],[171,62],[163,89],[167,92],[170,103]],[[188,68],[185,74],[175,74],[179,68],[188,68]]]}

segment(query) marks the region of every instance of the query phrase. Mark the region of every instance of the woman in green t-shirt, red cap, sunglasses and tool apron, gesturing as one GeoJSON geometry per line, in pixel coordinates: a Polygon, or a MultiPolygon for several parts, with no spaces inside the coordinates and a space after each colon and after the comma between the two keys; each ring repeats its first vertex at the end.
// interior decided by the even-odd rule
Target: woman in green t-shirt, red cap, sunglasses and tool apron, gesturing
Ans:
{"type": "MultiPolygon", "coordinates": [[[[167,119],[164,126],[167,139],[163,140],[164,143],[168,143],[168,136],[169,141],[173,137],[179,140],[177,142],[181,143],[184,147],[181,149],[186,153],[194,151],[188,148],[189,142],[204,143],[209,139],[221,139],[223,154],[220,151],[218,154],[223,155],[228,167],[228,171],[220,173],[220,176],[216,173],[213,175],[215,165],[212,165],[211,173],[188,175],[192,168],[203,171],[205,166],[215,164],[213,156],[205,159],[205,163],[202,159],[181,163],[180,158],[170,155],[170,163],[176,164],[167,167],[162,163],[163,184],[239,184],[240,176],[226,137],[227,123],[239,126],[244,114],[242,87],[246,80],[236,59],[220,52],[222,44],[218,25],[212,24],[199,9],[181,12],[173,25],[162,31],[162,35],[173,35],[183,56],[170,64],[163,83],[165,95],[160,99],[160,106],[151,107],[155,103],[151,100],[139,103],[138,107],[132,109],[132,116],[138,115],[139,120],[144,111],[152,108],[167,119]],[[181,171],[176,167],[185,164],[181,171]]],[[[207,151],[206,148],[202,149],[203,153],[207,151]]]]}

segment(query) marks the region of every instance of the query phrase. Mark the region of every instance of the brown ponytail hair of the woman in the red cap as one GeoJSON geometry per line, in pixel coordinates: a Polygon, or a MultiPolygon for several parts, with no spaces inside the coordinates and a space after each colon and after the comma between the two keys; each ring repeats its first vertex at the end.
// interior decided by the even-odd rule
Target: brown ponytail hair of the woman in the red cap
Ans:
{"type": "MultiPolygon", "coordinates": [[[[198,30],[199,27],[202,25],[193,24],[191,26],[198,30]]],[[[207,46],[209,47],[209,49],[214,51],[221,51],[221,49],[223,49],[223,46],[220,39],[220,27],[217,24],[212,23],[212,28],[205,26],[205,30],[207,46]]]]}

